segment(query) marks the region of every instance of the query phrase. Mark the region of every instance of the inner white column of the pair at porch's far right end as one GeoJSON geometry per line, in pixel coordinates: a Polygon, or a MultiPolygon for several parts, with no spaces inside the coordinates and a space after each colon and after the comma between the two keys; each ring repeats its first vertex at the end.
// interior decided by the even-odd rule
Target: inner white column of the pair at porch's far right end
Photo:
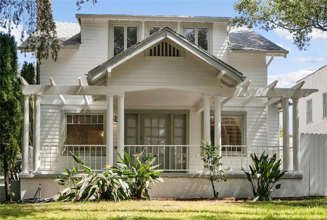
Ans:
{"type": "Polygon", "coordinates": [[[283,170],[290,171],[289,103],[283,98],[283,170]]]}

